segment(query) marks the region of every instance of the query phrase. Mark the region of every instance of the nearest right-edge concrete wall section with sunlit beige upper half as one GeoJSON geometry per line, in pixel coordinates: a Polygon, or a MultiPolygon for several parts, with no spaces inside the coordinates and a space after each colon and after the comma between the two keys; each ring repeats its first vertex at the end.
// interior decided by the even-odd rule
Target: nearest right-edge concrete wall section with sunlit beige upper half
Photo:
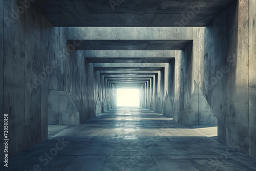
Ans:
{"type": "Polygon", "coordinates": [[[255,2],[238,1],[227,11],[226,143],[256,158],[255,2]],[[246,12],[245,12],[246,11],[246,12]],[[255,40],[255,39],[254,39],[255,40]],[[236,54],[236,55],[234,55],[236,54]]]}

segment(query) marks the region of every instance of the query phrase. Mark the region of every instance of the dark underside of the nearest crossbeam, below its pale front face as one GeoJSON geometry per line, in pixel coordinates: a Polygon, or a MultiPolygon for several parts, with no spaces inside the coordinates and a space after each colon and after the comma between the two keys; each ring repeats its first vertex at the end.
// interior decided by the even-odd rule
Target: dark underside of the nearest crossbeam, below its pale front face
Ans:
{"type": "Polygon", "coordinates": [[[76,50],[182,50],[192,40],[68,40],[76,50]]]}

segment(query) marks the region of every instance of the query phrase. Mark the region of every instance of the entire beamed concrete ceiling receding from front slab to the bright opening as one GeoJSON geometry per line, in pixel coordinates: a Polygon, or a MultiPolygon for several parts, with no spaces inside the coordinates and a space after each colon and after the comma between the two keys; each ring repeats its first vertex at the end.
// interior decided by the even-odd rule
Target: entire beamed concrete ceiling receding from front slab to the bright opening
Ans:
{"type": "Polygon", "coordinates": [[[32,4],[54,26],[85,27],[78,28],[80,37],[67,41],[80,42],[76,50],[85,52],[86,62],[94,63],[100,77],[115,87],[141,87],[158,77],[164,63],[174,62],[175,50],[193,41],[193,31],[184,27],[207,26],[232,2],[38,0],[32,4]],[[176,26],[184,27],[167,28],[176,26]]]}

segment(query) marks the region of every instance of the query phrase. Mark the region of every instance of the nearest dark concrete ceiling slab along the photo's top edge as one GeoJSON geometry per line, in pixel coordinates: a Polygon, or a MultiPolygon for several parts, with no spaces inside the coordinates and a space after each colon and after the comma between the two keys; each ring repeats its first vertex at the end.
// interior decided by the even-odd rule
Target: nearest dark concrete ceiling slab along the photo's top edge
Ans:
{"type": "MultiPolygon", "coordinates": [[[[206,26],[233,0],[40,0],[33,5],[54,26],[62,27],[173,27],[179,22],[186,27],[206,26]],[[182,23],[201,4],[196,15],[182,23]]],[[[195,13],[194,13],[195,14],[195,13]]]]}

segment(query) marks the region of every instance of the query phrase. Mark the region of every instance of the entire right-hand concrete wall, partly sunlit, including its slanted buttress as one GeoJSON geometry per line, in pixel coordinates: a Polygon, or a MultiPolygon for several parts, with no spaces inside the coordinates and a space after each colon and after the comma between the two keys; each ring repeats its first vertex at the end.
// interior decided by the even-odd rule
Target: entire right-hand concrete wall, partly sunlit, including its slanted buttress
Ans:
{"type": "Polygon", "coordinates": [[[239,0],[193,34],[193,49],[176,52],[174,120],[217,117],[218,141],[256,158],[255,2],[239,0]]]}

